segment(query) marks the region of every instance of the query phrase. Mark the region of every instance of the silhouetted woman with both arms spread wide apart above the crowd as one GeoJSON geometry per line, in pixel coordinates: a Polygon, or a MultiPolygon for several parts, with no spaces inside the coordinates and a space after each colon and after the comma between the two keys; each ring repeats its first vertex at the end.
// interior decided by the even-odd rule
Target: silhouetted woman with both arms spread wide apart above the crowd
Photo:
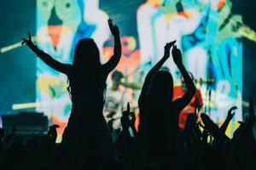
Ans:
{"type": "Polygon", "coordinates": [[[26,45],[47,65],[67,75],[68,92],[72,100],[72,111],[62,135],[61,145],[70,150],[101,152],[103,156],[114,156],[113,142],[107,123],[102,115],[105,102],[108,74],[118,65],[121,44],[118,26],[108,19],[108,26],[114,37],[113,56],[101,64],[100,52],[91,38],[80,39],[73,56],[73,65],[62,64],[49,54],[38,49],[29,39],[22,38],[26,45]],[[92,146],[90,144],[95,144],[92,146]],[[86,146],[85,146],[86,145],[86,146]]]}

